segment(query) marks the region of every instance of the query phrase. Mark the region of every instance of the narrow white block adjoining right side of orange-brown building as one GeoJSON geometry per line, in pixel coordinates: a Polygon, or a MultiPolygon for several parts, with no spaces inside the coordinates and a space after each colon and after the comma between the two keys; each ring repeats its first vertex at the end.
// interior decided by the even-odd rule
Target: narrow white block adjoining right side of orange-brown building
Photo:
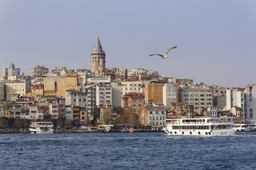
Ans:
{"type": "Polygon", "coordinates": [[[176,103],[176,86],[173,83],[165,83],[163,86],[163,105],[169,109],[170,103],[176,103]]]}

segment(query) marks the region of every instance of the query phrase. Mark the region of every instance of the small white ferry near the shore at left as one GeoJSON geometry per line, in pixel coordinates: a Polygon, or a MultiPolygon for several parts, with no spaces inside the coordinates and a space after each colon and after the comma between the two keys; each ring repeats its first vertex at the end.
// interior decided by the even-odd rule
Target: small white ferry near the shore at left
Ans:
{"type": "Polygon", "coordinates": [[[53,122],[31,122],[29,130],[34,134],[54,133],[53,122]]]}

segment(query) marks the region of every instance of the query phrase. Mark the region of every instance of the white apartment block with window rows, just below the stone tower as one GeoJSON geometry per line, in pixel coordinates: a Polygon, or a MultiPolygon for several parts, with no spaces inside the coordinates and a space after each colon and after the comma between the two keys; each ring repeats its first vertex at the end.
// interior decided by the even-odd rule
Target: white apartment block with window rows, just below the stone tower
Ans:
{"type": "Polygon", "coordinates": [[[96,105],[101,108],[104,103],[112,103],[112,87],[110,83],[100,83],[96,86],[96,105]]]}

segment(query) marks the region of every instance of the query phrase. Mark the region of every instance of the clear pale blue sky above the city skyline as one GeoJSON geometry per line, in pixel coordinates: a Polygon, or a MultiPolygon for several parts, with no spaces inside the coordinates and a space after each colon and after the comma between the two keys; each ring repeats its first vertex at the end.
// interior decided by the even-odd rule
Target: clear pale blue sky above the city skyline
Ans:
{"type": "Polygon", "coordinates": [[[0,68],[106,67],[244,87],[256,83],[256,1],[0,1],[0,68]],[[163,54],[170,47],[168,59],[163,54]]]}

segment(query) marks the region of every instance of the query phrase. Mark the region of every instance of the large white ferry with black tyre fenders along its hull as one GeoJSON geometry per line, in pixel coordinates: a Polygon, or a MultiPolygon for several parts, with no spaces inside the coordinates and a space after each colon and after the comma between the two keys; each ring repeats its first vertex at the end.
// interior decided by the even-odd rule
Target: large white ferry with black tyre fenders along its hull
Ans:
{"type": "Polygon", "coordinates": [[[234,135],[233,117],[167,119],[163,130],[168,135],[229,136],[234,135]]]}

